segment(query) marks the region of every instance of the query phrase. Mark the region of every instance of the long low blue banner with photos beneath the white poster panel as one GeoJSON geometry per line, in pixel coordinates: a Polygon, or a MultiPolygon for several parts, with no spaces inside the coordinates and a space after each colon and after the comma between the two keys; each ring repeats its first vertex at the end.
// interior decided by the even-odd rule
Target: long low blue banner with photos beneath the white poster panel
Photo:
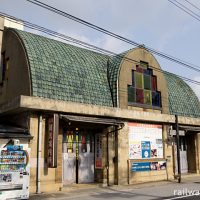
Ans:
{"type": "Polygon", "coordinates": [[[160,171],[166,169],[166,161],[159,162],[136,162],[132,163],[132,172],[144,172],[144,171],[160,171]]]}

